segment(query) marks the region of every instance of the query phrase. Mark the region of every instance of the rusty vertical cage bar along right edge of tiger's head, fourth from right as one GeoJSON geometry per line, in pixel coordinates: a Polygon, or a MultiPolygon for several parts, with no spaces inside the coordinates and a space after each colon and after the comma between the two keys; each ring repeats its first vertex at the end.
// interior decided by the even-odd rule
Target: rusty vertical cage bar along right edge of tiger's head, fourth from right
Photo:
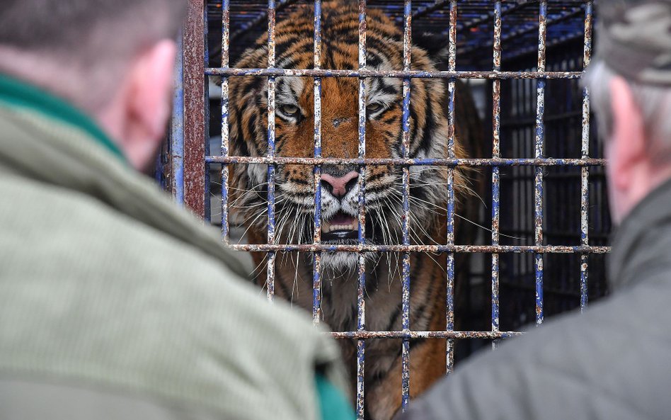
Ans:
{"type": "MultiPolygon", "coordinates": [[[[457,68],[457,0],[449,2],[449,50],[448,68],[457,68]]],[[[449,101],[447,103],[447,156],[454,157],[454,79],[447,83],[449,101]]],[[[454,167],[447,168],[447,245],[454,245],[454,167]]],[[[447,302],[445,327],[454,331],[454,252],[447,253],[447,302]]],[[[454,368],[454,339],[447,339],[446,373],[454,368]]]]}

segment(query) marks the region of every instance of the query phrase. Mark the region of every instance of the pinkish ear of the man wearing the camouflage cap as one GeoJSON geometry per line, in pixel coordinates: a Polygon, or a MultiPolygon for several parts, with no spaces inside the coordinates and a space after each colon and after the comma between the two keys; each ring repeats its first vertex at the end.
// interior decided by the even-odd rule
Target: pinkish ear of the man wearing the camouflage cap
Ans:
{"type": "Polygon", "coordinates": [[[621,191],[631,188],[634,171],[646,157],[643,117],[634,101],[629,84],[615,76],[609,85],[613,115],[609,140],[609,175],[612,185],[621,191]]]}

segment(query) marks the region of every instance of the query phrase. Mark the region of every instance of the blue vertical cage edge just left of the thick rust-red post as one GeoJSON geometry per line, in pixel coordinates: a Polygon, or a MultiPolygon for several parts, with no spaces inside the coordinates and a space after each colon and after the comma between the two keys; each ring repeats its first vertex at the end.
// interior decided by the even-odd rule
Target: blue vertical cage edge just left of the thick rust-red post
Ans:
{"type": "Polygon", "coordinates": [[[177,37],[173,116],[170,121],[171,192],[176,203],[184,206],[184,81],[182,33],[177,37]]]}

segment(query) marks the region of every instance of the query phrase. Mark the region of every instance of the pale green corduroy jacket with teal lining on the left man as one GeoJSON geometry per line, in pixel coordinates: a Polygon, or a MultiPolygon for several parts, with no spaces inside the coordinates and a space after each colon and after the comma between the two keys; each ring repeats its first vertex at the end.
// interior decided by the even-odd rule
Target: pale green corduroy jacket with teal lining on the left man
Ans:
{"type": "Polygon", "coordinates": [[[0,75],[0,418],[351,418],[338,348],[244,274],[90,119],[0,75]]]}

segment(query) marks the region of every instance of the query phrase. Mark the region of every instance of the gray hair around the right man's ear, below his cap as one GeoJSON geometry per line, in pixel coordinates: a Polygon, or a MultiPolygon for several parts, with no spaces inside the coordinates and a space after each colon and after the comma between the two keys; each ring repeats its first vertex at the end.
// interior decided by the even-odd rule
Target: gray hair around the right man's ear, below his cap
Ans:
{"type": "MultiPolygon", "coordinates": [[[[619,74],[603,61],[595,60],[583,79],[583,84],[590,89],[592,110],[597,114],[603,138],[610,137],[613,130],[610,83],[615,76],[619,74]]],[[[626,77],[624,79],[641,111],[651,160],[655,164],[671,163],[671,89],[668,86],[641,84],[626,77]]]]}

